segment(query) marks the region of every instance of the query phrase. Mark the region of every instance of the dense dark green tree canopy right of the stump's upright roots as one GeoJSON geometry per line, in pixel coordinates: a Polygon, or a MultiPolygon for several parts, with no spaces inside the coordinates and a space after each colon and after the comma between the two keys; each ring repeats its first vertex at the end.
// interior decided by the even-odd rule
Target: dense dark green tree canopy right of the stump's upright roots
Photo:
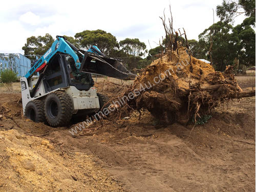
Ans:
{"type": "MultiPolygon", "coordinates": [[[[217,70],[223,71],[226,65],[232,65],[236,59],[245,66],[255,65],[255,32],[250,27],[251,18],[236,27],[228,23],[218,22],[205,29],[199,35],[196,48],[191,49],[196,57],[209,59],[210,37],[212,36],[212,61],[217,70]],[[199,49],[199,52],[197,50],[199,49]]],[[[191,42],[191,41],[190,41],[191,42]]],[[[196,44],[196,42],[194,41],[196,44]]]]}

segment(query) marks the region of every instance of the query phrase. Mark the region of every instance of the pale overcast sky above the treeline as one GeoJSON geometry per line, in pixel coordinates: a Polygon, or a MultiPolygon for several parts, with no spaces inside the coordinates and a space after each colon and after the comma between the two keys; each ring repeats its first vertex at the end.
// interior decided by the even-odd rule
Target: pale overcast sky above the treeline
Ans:
{"type": "MultiPolygon", "coordinates": [[[[154,1],[1,1],[0,53],[24,53],[22,47],[30,36],[74,36],[83,30],[102,29],[117,40],[139,38],[147,49],[158,46],[164,29],[159,16],[169,16],[174,28],[184,27],[188,39],[197,39],[212,25],[212,8],[222,0],[154,0],[154,1]],[[148,41],[150,44],[148,44],[148,41]]],[[[215,14],[215,22],[219,18],[215,14]]],[[[238,17],[235,24],[241,23],[238,17]]]]}

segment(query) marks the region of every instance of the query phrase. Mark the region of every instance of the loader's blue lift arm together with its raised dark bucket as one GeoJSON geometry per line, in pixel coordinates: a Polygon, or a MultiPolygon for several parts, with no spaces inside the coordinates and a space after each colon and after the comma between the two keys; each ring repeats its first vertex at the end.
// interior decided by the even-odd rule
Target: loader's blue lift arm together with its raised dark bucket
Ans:
{"type": "Polygon", "coordinates": [[[96,46],[92,46],[88,51],[81,52],[75,46],[73,46],[65,37],[56,36],[57,39],[53,42],[52,47],[35,63],[35,65],[25,75],[28,79],[35,72],[42,69],[40,76],[36,82],[35,87],[32,89],[31,97],[35,95],[35,92],[44,77],[45,71],[48,67],[49,60],[57,53],[69,54],[75,61],[75,68],[77,72],[95,73],[99,75],[106,75],[118,79],[134,79],[136,75],[129,73],[125,67],[116,58],[106,57],[96,46]],[[83,55],[82,62],[79,61],[79,57],[75,52],[79,52],[83,55]]]}

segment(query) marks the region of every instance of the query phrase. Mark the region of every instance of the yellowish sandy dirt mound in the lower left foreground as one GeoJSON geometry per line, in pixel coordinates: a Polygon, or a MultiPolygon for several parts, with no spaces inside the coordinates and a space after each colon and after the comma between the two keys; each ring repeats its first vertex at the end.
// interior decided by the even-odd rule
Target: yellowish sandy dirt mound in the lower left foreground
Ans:
{"type": "Polygon", "coordinates": [[[0,131],[0,191],[120,191],[92,156],[17,130],[0,131]]]}

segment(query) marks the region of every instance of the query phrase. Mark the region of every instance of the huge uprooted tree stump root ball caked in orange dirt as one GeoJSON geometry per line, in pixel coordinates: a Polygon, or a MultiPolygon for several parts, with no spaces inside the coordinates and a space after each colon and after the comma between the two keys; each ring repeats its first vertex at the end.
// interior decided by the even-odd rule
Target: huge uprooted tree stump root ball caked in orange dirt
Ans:
{"type": "Polygon", "coordinates": [[[187,124],[227,99],[238,98],[241,88],[232,67],[228,66],[224,73],[217,72],[209,63],[189,57],[188,50],[179,47],[143,69],[124,95],[131,92],[135,95],[128,102],[131,108],[147,109],[163,123],[187,124]]]}

